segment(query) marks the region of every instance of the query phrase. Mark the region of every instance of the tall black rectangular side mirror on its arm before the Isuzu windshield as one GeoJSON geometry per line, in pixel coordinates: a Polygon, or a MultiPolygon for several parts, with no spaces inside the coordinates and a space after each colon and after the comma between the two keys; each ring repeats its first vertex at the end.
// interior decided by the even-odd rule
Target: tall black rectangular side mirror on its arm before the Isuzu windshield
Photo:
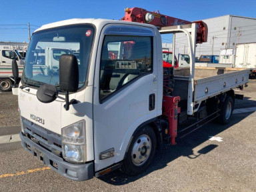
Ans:
{"type": "Polygon", "coordinates": [[[77,57],[63,54],[59,58],[59,87],[65,91],[65,109],[69,110],[69,92],[76,92],[79,85],[79,71],[77,57]]]}

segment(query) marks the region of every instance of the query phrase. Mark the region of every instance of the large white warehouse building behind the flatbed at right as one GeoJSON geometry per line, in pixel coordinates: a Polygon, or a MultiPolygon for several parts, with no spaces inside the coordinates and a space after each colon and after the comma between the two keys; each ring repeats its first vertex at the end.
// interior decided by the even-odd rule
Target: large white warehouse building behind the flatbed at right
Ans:
{"type": "MultiPolygon", "coordinates": [[[[219,55],[221,49],[235,48],[237,43],[256,42],[256,18],[225,15],[203,21],[208,26],[208,40],[197,44],[196,57],[211,55],[212,52],[219,55]]],[[[176,35],[176,43],[179,53],[188,53],[187,38],[183,33],[176,35]]]]}

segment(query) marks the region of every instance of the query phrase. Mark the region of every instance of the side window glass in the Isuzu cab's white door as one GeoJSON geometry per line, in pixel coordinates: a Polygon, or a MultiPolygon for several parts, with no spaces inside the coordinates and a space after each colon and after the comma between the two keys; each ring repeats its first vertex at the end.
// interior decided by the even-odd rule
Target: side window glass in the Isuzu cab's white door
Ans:
{"type": "Polygon", "coordinates": [[[101,53],[100,101],[127,83],[152,73],[152,37],[106,35],[101,53]]]}

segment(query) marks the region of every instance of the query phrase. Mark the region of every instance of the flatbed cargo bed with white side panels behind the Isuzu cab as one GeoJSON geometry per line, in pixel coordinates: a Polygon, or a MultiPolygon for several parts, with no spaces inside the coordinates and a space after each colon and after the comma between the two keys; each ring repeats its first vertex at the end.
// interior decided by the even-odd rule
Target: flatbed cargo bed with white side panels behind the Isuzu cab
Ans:
{"type": "MultiPolygon", "coordinates": [[[[189,70],[189,67],[182,67],[174,71],[175,89],[173,96],[180,96],[181,101],[187,101],[189,70]]],[[[193,106],[231,89],[243,87],[243,85],[246,85],[248,82],[249,69],[195,67],[193,106]]],[[[197,109],[198,107],[194,107],[193,113],[195,113],[197,109]]]]}

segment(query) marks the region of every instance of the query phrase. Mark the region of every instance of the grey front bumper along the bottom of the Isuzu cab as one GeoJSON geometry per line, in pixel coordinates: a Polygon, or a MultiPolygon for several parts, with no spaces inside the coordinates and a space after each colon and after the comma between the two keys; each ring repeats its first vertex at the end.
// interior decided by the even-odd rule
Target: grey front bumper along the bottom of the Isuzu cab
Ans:
{"type": "Polygon", "coordinates": [[[28,137],[23,135],[21,132],[19,134],[21,137],[21,145],[34,157],[43,161],[45,165],[48,165],[56,171],[57,173],[72,179],[74,181],[85,181],[92,179],[94,176],[94,166],[93,162],[86,164],[73,164],[64,161],[61,157],[54,155],[47,149],[41,147],[37,143],[31,141],[28,137]]]}

